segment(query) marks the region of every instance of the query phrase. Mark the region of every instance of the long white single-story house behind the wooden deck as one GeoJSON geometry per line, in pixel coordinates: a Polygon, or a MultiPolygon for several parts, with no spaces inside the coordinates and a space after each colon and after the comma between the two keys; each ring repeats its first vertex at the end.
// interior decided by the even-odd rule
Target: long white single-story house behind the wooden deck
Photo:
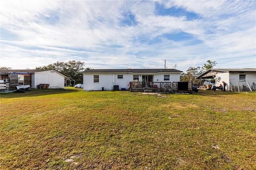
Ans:
{"type": "Polygon", "coordinates": [[[180,81],[182,71],[176,69],[90,69],[83,73],[84,91],[129,89],[129,82],[180,81]],[[116,89],[118,88],[118,89],[116,89]]]}

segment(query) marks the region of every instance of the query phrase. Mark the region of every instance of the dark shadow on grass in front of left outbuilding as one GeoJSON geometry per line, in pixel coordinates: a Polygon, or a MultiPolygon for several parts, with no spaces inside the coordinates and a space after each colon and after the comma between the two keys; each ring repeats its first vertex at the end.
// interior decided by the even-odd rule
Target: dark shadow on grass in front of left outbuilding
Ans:
{"type": "Polygon", "coordinates": [[[25,91],[24,93],[1,93],[0,98],[10,99],[17,97],[34,97],[34,96],[43,96],[43,95],[53,95],[53,94],[61,94],[61,93],[75,93],[81,90],[78,89],[32,89],[29,91],[25,91]]]}

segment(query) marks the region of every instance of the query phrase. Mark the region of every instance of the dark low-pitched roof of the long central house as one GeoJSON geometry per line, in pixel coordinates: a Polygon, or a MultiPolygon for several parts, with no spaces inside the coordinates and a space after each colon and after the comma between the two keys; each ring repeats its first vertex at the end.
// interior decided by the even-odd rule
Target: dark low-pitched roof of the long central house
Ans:
{"type": "Polygon", "coordinates": [[[182,73],[176,69],[90,69],[81,73],[182,73]]]}

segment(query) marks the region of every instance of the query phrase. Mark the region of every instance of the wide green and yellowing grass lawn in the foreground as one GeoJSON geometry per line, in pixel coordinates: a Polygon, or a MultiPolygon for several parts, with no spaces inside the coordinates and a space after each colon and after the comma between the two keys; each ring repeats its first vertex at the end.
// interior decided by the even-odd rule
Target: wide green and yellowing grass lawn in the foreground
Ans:
{"type": "Polygon", "coordinates": [[[4,170],[256,167],[256,92],[69,88],[1,94],[0,102],[4,170]]]}

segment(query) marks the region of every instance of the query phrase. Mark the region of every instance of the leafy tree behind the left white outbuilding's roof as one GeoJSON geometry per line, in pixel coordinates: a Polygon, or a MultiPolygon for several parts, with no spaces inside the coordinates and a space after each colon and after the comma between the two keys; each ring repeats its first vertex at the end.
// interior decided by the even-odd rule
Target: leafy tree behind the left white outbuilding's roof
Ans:
{"type": "Polygon", "coordinates": [[[76,84],[83,83],[83,74],[80,71],[84,71],[84,62],[81,61],[57,62],[36,69],[53,69],[74,79],[76,84]]]}

